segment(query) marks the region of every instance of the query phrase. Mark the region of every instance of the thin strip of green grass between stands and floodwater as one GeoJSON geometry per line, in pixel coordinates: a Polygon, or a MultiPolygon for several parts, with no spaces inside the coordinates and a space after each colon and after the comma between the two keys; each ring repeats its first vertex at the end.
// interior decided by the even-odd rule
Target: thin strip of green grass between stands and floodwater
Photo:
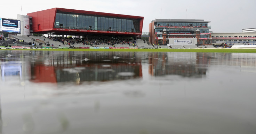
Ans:
{"type": "Polygon", "coordinates": [[[0,49],[0,50],[29,50],[29,51],[122,51],[122,52],[243,52],[255,53],[256,49],[0,49]]]}

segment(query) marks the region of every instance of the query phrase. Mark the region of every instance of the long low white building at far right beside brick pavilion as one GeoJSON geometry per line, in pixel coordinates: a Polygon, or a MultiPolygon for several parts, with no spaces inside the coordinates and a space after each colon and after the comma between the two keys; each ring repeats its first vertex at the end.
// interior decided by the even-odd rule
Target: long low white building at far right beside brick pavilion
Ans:
{"type": "Polygon", "coordinates": [[[256,43],[256,32],[240,32],[240,33],[211,33],[212,44],[224,43],[256,43]]]}

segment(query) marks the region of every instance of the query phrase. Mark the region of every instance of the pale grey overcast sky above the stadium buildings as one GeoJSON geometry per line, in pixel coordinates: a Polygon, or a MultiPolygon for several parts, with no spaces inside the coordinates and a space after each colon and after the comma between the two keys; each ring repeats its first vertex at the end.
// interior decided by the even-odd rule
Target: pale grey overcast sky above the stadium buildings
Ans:
{"type": "Polygon", "coordinates": [[[1,2],[0,7],[0,18],[10,19],[50,8],[142,16],[143,32],[149,31],[149,23],[155,19],[203,19],[210,21],[213,32],[256,28],[256,0],[12,0],[1,2]]]}

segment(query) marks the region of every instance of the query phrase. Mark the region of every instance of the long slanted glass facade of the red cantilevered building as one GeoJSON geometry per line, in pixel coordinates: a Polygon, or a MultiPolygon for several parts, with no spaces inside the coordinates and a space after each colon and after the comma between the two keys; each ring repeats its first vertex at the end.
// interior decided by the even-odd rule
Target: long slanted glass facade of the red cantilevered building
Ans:
{"type": "Polygon", "coordinates": [[[140,32],[139,20],[56,13],[54,28],[140,32]]]}

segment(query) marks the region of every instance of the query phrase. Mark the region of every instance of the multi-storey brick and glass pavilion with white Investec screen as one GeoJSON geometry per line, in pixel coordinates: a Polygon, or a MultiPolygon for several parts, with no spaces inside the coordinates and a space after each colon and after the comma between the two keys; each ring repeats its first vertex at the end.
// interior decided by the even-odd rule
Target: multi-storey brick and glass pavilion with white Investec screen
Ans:
{"type": "Polygon", "coordinates": [[[195,19],[155,19],[149,24],[149,40],[156,45],[211,45],[209,22],[195,19]]]}

